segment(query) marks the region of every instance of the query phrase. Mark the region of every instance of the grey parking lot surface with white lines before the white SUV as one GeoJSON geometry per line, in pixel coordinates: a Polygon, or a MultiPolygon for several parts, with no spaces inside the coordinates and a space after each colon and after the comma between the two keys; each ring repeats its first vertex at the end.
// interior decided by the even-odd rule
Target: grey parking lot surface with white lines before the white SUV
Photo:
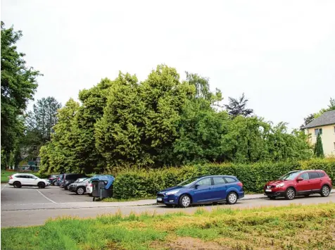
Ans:
{"type": "Polygon", "coordinates": [[[50,186],[44,189],[37,187],[14,188],[9,185],[1,185],[1,206],[33,205],[33,204],[59,204],[92,201],[87,195],[77,195],[58,186],[50,186]]]}

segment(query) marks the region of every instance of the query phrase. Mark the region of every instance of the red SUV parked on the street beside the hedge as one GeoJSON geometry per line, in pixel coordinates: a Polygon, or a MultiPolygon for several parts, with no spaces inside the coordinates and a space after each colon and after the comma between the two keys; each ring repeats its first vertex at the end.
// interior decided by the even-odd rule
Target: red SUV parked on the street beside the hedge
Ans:
{"type": "Polygon", "coordinates": [[[289,200],[296,196],[310,194],[321,194],[322,197],[327,197],[331,188],[331,179],[323,170],[292,171],[280,177],[279,180],[267,182],[264,186],[264,195],[270,199],[283,196],[289,200]]]}

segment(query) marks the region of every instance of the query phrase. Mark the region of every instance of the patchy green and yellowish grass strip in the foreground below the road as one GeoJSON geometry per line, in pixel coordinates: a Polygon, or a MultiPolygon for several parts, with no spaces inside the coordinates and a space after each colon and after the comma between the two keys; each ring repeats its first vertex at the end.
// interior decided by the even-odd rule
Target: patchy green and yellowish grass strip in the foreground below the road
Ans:
{"type": "Polygon", "coordinates": [[[58,218],[1,229],[1,249],[335,249],[335,204],[58,218]]]}

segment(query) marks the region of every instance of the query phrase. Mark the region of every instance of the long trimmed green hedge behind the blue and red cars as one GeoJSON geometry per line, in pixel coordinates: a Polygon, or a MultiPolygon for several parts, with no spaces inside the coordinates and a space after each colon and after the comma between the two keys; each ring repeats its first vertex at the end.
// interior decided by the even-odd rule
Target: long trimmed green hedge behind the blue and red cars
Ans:
{"type": "Polygon", "coordinates": [[[154,196],[166,187],[172,187],[189,177],[199,175],[235,175],[244,184],[246,192],[262,192],[265,182],[276,180],[291,170],[325,170],[335,180],[335,158],[310,161],[205,164],[159,170],[130,170],[119,173],[114,182],[115,198],[154,196]]]}

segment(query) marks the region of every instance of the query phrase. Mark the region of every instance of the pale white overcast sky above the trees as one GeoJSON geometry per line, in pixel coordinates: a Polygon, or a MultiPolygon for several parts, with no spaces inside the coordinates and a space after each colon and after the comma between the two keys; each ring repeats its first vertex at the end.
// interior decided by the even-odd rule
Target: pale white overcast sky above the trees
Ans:
{"type": "MultiPolygon", "coordinates": [[[[210,78],[274,123],[298,127],[335,97],[335,1],[2,0],[41,71],[35,100],[62,104],[118,71],[145,80],[165,63],[210,78]]],[[[31,108],[30,104],[30,108],[31,108]]]]}

